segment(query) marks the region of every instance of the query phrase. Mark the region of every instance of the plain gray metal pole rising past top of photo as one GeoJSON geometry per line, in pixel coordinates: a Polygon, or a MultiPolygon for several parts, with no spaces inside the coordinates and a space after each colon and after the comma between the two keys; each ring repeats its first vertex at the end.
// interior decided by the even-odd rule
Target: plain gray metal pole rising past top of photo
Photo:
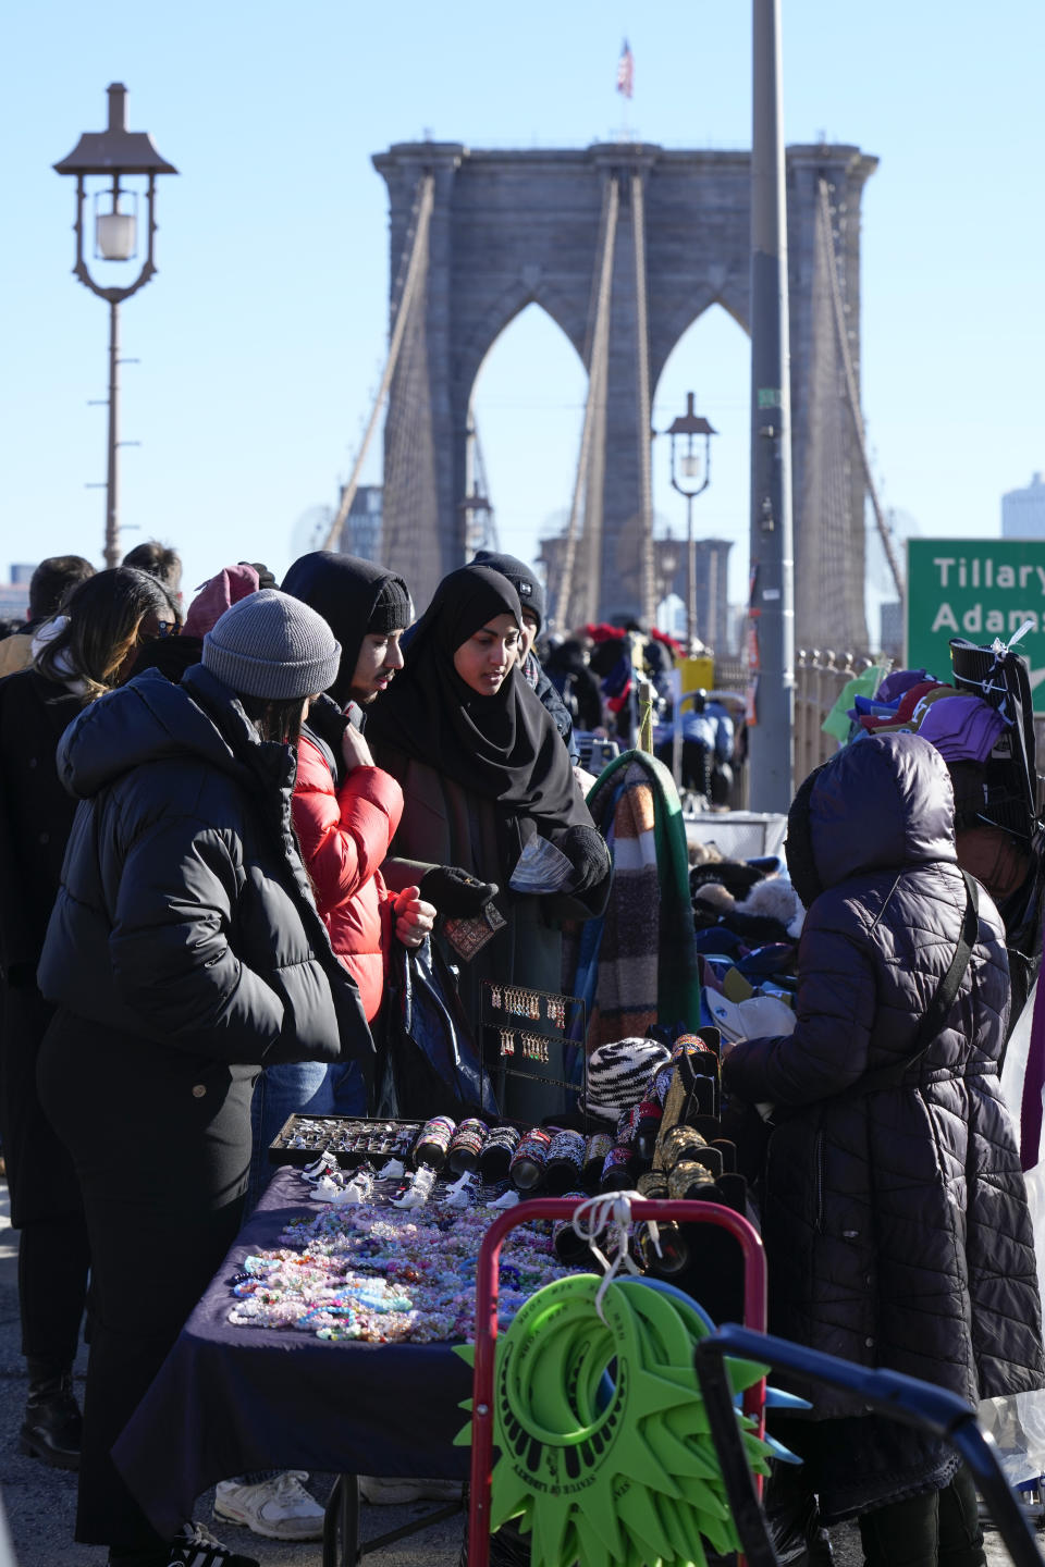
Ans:
{"type": "MultiPolygon", "coordinates": [[[[793,793],[794,561],[780,0],[754,0],[750,152],[750,805],[793,793]]],[[[813,563],[815,566],[815,563],[813,563]]]]}

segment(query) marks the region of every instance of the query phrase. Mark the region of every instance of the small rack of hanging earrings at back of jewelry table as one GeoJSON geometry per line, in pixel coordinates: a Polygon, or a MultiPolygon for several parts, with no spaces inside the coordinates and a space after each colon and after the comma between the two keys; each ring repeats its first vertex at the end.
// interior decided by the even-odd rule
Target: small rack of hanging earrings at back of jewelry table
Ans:
{"type": "Polygon", "coordinates": [[[483,1040],[501,1075],[539,1078],[564,1091],[584,1083],[584,1003],[573,995],[483,981],[483,1040]]]}

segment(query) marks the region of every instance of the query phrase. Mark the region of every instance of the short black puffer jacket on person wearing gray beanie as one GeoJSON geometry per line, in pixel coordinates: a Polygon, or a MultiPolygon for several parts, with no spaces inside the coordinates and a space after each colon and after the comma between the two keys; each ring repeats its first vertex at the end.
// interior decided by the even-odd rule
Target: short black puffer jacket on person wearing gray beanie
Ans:
{"type": "Polygon", "coordinates": [[[50,1001],[229,1066],[373,1053],[298,856],[295,755],[210,671],[100,697],[58,773],[85,804],[39,967],[50,1001]]]}

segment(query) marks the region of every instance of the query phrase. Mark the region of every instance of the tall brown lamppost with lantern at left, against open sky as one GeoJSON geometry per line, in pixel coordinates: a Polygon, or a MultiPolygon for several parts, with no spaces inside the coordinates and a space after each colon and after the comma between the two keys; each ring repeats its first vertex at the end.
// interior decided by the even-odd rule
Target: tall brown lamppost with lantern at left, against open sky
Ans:
{"type": "MultiPolygon", "coordinates": [[[[88,130],[72,149],[67,158],[53,165],[58,174],[75,174],[77,177],[77,262],[74,276],[96,293],[99,299],[108,301],[108,462],[105,473],[105,564],[119,566],[119,307],[124,299],[149,282],[157,268],[154,263],[155,223],[155,186],[157,174],[177,174],[172,163],[160,157],[152,144],[152,136],[144,130],[127,130],[127,88],[121,81],[113,81],[108,88],[108,127],[105,130],[88,130]],[[96,255],[105,262],[128,262],[136,254],[138,213],[136,193],[125,191],[122,180],[132,176],[146,176],[149,186],[146,191],[146,260],[133,284],[128,288],[103,288],[91,277],[88,263],[83,259],[83,202],[86,197],[85,180],[91,174],[111,179],[111,202],[108,212],[97,212],[99,196],[96,194],[94,243],[96,255]],[[133,201],[133,210],[122,210],[121,202],[133,201]]],[[[105,199],[105,193],[102,193],[105,199]]]]}

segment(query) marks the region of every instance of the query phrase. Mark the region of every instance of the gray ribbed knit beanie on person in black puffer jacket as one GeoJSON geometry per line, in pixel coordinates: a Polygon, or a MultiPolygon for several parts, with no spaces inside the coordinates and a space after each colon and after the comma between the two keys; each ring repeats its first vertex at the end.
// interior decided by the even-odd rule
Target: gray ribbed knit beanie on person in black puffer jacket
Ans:
{"type": "Polygon", "coordinates": [[[240,696],[269,702],[326,691],[337,679],[342,644],[301,599],[263,588],[226,610],[204,638],[202,661],[240,696]]]}

